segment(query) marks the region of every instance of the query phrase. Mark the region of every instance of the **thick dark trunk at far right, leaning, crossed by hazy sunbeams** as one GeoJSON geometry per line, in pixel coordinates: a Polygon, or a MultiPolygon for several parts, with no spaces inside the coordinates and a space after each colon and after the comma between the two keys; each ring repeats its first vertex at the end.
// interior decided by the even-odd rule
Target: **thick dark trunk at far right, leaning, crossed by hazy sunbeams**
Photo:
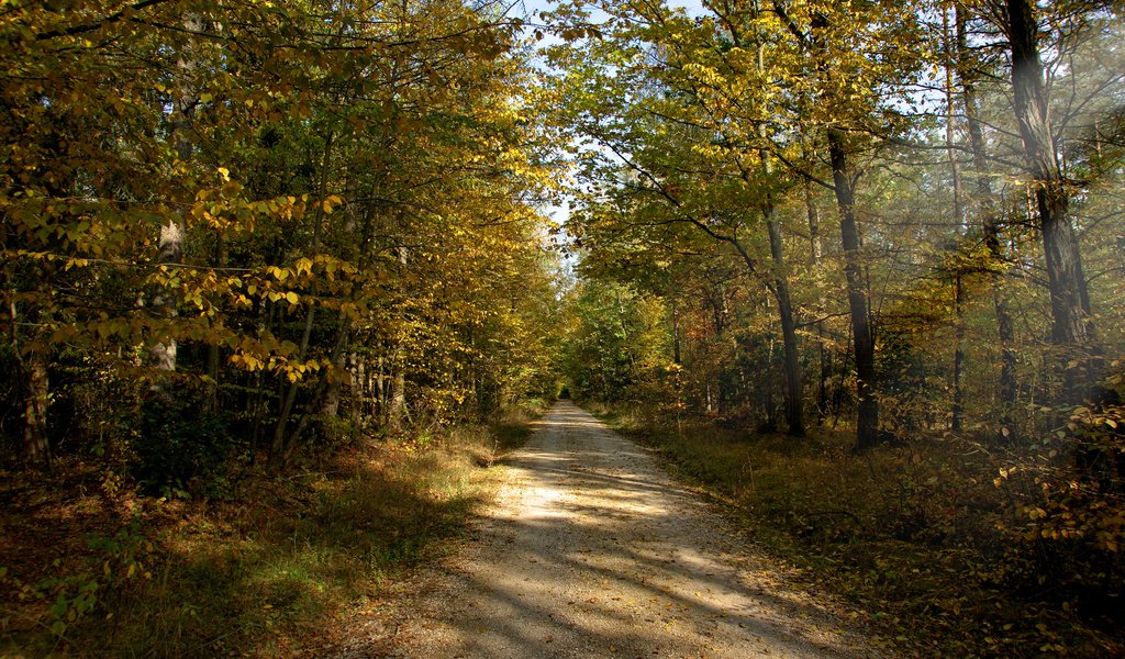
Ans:
{"type": "Polygon", "coordinates": [[[1011,46],[1012,105],[1024,157],[1033,177],[1046,255],[1053,321],[1051,341],[1059,350],[1058,363],[1063,373],[1062,401],[1078,404],[1089,383],[1081,362],[1090,356],[1084,352],[1092,343],[1092,324],[1078,236],[1071,224],[1070,193],[1051,132],[1038,22],[1030,0],[1006,0],[1005,9],[1011,46]]]}

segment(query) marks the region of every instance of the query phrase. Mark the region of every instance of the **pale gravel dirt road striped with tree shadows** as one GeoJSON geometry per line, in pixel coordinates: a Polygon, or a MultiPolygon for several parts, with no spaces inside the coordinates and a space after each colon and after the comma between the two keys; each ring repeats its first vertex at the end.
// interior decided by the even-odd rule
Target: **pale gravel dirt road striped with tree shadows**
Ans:
{"type": "Polygon", "coordinates": [[[389,656],[875,656],[574,405],[510,469],[474,540],[418,587],[389,656]]]}

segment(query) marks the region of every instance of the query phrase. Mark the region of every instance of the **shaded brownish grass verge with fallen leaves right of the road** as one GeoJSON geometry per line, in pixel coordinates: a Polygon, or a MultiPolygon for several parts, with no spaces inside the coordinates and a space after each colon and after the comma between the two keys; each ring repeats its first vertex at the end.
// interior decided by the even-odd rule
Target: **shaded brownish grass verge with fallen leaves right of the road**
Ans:
{"type": "Polygon", "coordinates": [[[844,432],[793,440],[662,425],[594,408],[663,454],[747,539],[810,588],[850,602],[876,644],[918,657],[1109,657],[1125,652],[1114,610],[1060,592],[1014,536],[989,455],[933,437],[857,455],[844,432]]]}

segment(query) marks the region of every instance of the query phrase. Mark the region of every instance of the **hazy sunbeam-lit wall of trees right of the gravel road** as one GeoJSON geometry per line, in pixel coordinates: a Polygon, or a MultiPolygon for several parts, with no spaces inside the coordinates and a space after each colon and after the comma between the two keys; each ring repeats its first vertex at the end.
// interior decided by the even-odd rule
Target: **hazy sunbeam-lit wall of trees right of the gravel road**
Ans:
{"type": "Polygon", "coordinates": [[[1026,556],[1118,593],[1120,7],[555,18],[584,182],[576,395],[848,428],[857,451],[963,442],[994,457],[978,478],[1026,556]]]}

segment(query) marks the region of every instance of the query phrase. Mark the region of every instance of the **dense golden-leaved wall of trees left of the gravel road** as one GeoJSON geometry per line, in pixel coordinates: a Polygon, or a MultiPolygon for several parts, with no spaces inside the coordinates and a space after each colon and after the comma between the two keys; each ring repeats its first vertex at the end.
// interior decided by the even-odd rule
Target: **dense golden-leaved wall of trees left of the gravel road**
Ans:
{"type": "Polygon", "coordinates": [[[507,10],[6,6],[6,457],[183,491],[549,396],[549,99],[507,10]]]}

